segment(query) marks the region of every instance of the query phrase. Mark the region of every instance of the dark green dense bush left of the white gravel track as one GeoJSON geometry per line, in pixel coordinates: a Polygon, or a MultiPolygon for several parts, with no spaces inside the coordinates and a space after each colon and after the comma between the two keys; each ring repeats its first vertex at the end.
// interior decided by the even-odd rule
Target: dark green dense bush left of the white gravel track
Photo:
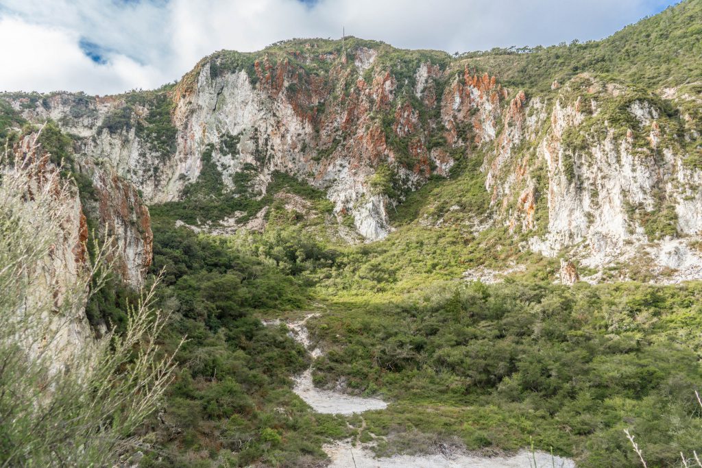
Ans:
{"type": "Polygon", "coordinates": [[[307,354],[286,328],[258,318],[307,304],[299,276],[331,255],[317,248],[284,232],[241,246],[154,217],[161,304],[176,313],[167,343],[183,334],[189,341],[176,355],[180,373],[155,433],[165,450],[149,453],[143,466],[296,466],[321,460],[321,444],[347,434],[343,418],[314,414],[291,392],[290,377],[308,365],[307,354]]]}

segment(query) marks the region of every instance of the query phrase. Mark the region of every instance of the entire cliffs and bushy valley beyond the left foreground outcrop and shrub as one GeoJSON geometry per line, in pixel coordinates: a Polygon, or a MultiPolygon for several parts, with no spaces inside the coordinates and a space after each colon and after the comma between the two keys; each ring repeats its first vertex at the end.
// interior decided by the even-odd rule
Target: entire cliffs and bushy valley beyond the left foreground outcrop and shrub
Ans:
{"type": "Polygon", "coordinates": [[[627,428],[677,466],[701,451],[701,36],[687,0],[529,50],[293,39],[155,91],[2,93],[0,137],[49,121],[115,234],[93,326],[163,274],[164,346],[190,340],[140,467],[324,466],[331,443],[635,466],[627,428]],[[307,368],[388,405],[325,413],[307,368]]]}

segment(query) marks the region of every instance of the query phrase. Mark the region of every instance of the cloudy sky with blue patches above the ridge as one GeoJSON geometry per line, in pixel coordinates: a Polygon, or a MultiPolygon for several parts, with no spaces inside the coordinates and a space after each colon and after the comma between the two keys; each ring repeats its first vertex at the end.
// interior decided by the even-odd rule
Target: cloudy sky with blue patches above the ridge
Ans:
{"type": "Polygon", "coordinates": [[[678,0],[0,0],[0,91],[113,94],[295,37],[449,53],[602,39],[678,0]]]}

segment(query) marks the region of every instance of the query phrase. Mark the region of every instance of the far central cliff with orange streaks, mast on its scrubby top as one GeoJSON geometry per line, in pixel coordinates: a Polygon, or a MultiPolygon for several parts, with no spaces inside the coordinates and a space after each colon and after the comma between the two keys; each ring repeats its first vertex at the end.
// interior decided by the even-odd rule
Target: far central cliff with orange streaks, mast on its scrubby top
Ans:
{"type": "Polygon", "coordinates": [[[444,53],[347,43],[343,56],[338,41],[322,40],[216,53],[160,93],[6,98],[29,121],[57,121],[151,203],[178,199],[211,145],[226,187],[253,171],[256,196],[272,173],[288,173],[324,189],[338,216],[376,240],[390,232],[388,208],[402,192],[448,175],[456,157],[495,138],[508,92],[444,53]],[[392,180],[373,188],[381,165],[392,180]]]}

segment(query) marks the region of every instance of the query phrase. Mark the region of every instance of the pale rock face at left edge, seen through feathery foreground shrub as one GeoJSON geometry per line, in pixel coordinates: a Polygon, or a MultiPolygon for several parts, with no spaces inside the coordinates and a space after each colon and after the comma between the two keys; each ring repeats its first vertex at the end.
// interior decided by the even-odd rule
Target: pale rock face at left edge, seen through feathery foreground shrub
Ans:
{"type": "MultiPolygon", "coordinates": [[[[0,166],[4,338],[32,356],[51,356],[59,370],[90,346],[88,227],[74,185],[60,177],[30,134],[0,166]],[[11,276],[11,278],[9,278],[11,276]]],[[[5,343],[6,345],[7,343],[5,343]]]]}

